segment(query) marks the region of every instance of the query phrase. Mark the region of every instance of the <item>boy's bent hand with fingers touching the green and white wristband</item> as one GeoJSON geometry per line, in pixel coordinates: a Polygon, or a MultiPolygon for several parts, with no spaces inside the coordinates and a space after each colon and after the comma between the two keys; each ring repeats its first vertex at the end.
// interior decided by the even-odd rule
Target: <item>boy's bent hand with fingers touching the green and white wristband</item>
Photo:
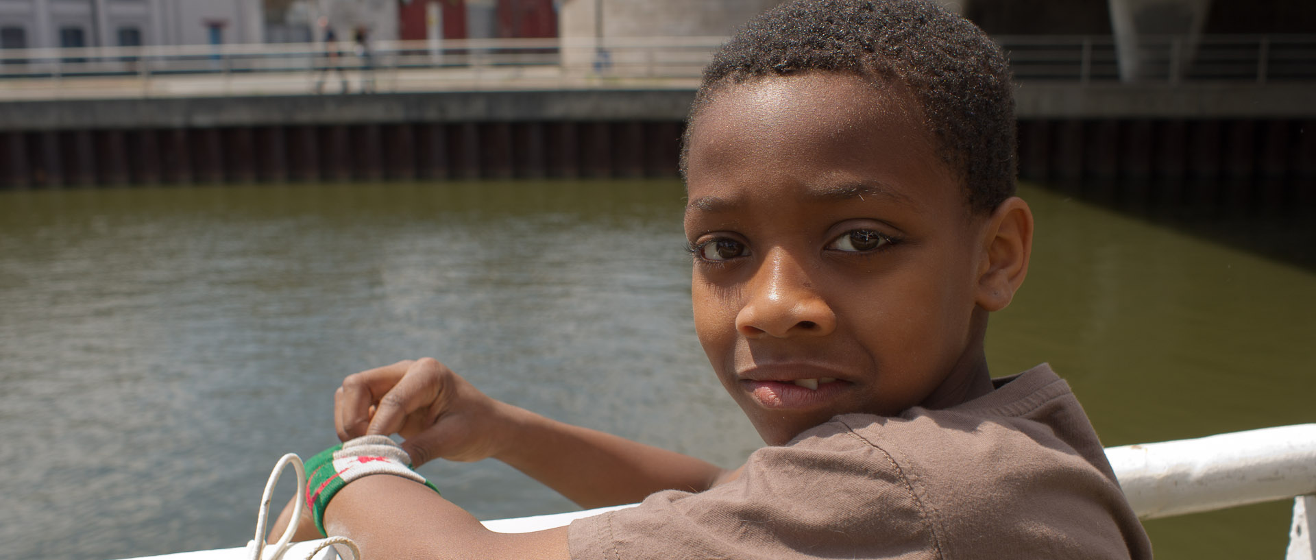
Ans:
{"type": "Polygon", "coordinates": [[[433,358],[350,375],[334,393],[340,439],[400,434],[412,467],[496,455],[512,410],[433,358]]]}

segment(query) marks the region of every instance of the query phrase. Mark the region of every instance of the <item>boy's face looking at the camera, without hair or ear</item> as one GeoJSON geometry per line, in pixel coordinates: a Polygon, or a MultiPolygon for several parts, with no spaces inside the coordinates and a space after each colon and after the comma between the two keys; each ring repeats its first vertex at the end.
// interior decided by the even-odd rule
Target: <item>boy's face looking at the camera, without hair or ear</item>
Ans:
{"type": "Polygon", "coordinates": [[[987,379],[982,218],[898,85],[729,85],[694,122],[699,339],[769,444],[844,413],[950,406],[987,379]]]}

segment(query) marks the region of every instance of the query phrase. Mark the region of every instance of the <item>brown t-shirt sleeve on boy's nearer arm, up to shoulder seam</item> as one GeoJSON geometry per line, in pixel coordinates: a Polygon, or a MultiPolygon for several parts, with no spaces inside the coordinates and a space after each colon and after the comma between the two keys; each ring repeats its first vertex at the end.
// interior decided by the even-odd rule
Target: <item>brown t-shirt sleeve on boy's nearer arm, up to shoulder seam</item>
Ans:
{"type": "Polygon", "coordinates": [[[736,481],[576,519],[571,557],[936,557],[933,523],[905,476],[884,451],[828,423],[755,451],[736,481]]]}

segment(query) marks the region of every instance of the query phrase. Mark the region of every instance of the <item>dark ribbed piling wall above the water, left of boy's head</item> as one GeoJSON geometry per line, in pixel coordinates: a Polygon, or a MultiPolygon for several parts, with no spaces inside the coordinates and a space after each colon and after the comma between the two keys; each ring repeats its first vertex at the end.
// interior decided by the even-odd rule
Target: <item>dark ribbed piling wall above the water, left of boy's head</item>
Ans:
{"type": "Polygon", "coordinates": [[[683,126],[559,121],[0,131],[0,185],[675,177],[683,126]]]}

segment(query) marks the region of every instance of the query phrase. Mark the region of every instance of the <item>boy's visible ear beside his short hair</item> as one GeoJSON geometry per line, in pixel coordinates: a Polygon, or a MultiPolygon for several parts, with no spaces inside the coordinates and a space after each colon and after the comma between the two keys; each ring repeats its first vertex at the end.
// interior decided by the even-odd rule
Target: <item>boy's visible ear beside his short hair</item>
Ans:
{"type": "Polygon", "coordinates": [[[1015,291],[1028,276],[1028,258],[1033,251],[1033,210],[1017,196],[1007,198],[992,210],[983,226],[980,264],[978,267],[978,306],[999,312],[1015,298],[1015,291]]]}

